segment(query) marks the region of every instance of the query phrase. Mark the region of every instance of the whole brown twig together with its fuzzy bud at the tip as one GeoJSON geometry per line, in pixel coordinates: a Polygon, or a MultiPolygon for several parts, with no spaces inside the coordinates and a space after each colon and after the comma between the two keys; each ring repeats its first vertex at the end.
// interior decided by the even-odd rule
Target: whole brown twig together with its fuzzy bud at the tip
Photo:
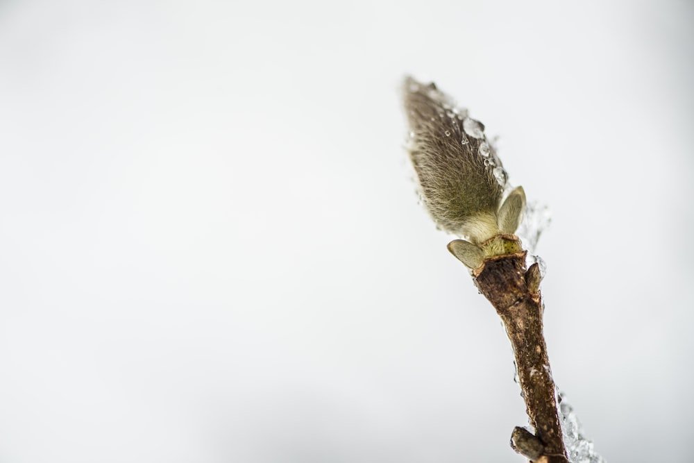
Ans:
{"type": "Polygon", "coordinates": [[[448,250],[473,271],[511,340],[532,435],[516,428],[511,446],[536,463],[568,463],[542,334],[541,275],[525,268],[514,235],[525,210],[523,187],[511,190],[484,125],[436,85],[405,78],[407,146],[421,196],[439,228],[464,237],[448,250]],[[503,201],[502,201],[503,200],[503,201]]]}

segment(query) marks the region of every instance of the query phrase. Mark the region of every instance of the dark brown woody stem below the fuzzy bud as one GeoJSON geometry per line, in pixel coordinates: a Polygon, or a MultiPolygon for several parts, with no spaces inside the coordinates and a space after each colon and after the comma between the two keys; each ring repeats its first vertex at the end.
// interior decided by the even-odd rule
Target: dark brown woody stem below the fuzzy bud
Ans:
{"type": "MultiPolygon", "coordinates": [[[[537,264],[525,269],[525,252],[488,258],[473,276],[506,327],[514,348],[527,416],[544,445],[542,463],[568,463],[555,400],[555,382],[542,334],[543,304],[537,264]]],[[[523,453],[523,452],[521,452],[523,453]]]]}

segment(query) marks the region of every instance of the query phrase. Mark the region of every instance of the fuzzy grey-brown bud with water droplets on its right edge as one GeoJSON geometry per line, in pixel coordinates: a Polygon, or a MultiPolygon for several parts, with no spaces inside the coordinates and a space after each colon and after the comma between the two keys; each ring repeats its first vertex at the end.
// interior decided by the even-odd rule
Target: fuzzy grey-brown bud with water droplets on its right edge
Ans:
{"type": "Polygon", "coordinates": [[[520,189],[511,194],[512,204],[501,205],[507,174],[482,123],[457,108],[434,83],[406,77],[403,96],[410,129],[407,148],[437,225],[473,244],[514,233],[525,194],[520,189]]]}

